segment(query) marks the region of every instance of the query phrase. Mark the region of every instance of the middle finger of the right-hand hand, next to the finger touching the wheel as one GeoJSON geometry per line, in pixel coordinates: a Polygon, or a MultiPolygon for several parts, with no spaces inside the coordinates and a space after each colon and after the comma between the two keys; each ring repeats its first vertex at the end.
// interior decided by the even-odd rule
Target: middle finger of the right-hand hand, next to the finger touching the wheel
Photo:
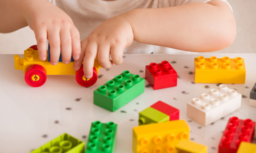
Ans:
{"type": "Polygon", "coordinates": [[[112,67],[112,61],[110,58],[110,47],[109,45],[100,45],[98,46],[98,62],[100,66],[105,69],[110,69],[112,67]]]}

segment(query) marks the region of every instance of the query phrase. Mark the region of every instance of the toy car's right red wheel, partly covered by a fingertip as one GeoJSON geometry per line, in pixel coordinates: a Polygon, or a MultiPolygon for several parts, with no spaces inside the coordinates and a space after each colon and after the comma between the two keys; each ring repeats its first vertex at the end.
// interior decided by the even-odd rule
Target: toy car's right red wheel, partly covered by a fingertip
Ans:
{"type": "Polygon", "coordinates": [[[94,67],[92,78],[90,78],[89,80],[87,80],[83,74],[83,66],[76,72],[76,82],[81,86],[85,86],[85,87],[92,86],[95,84],[97,79],[98,79],[98,75],[95,67],[94,67]]]}

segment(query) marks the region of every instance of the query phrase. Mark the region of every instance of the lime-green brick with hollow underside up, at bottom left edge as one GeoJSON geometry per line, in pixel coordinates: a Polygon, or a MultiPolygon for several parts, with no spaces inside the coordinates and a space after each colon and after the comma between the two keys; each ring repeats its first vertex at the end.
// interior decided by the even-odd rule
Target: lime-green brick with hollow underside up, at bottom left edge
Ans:
{"type": "Polygon", "coordinates": [[[61,134],[31,153],[85,153],[85,143],[69,134],[61,134]]]}

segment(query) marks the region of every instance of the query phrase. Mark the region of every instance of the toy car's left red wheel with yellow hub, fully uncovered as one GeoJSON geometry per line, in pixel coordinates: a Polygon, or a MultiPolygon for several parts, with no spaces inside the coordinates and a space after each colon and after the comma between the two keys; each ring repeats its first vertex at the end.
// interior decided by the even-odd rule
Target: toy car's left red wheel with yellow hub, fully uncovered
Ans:
{"type": "Polygon", "coordinates": [[[30,65],[25,70],[25,82],[33,87],[39,87],[46,82],[46,70],[39,64],[30,65]]]}

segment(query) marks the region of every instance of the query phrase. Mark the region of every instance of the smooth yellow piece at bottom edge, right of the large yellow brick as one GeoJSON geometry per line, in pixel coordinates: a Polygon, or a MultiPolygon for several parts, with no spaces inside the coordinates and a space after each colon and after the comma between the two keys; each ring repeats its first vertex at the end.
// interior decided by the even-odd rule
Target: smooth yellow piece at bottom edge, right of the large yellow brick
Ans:
{"type": "Polygon", "coordinates": [[[207,146],[182,139],[175,147],[176,153],[207,153],[207,146]]]}

